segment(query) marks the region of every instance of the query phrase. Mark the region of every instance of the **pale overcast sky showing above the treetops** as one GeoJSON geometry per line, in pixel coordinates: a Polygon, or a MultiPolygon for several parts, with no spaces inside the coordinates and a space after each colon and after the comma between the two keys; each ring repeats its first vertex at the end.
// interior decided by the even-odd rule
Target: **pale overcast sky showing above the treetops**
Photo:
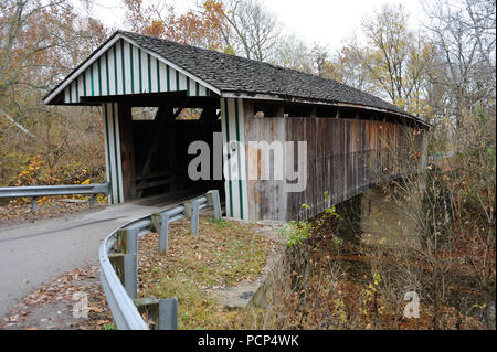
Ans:
{"type": "MultiPolygon", "coordinates": [[[[77,1],[77,0],[76,0],[77,1]]],[[[163,1],[163,0],[156,0],[163,1]]],[[[178,13],[193,8],[195,0],[168,0],[178,13]]],[[[277,14],[288,33],[294,33],[308,45],[314,42],[339,50],[343,39],[359,32],[361,19],[383,4],[403,4],[410,14],[410,28],[417,29],[424,14],[420,0],[263,0],[277,14]]],[[[96,0],[92,14],[113,28],[123,23],[120,0],[96,0]]]]}

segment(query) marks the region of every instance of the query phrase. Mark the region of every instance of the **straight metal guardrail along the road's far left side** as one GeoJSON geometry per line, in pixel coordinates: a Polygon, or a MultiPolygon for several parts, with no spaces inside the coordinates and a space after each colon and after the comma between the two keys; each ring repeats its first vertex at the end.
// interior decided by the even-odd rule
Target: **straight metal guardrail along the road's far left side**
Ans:
{"type": "Polygon", "coordinates": [[[108,194],[108,182],[102,184],[72,185],[27,185],[0,188],[0,198],[31,198],[31,210],[36,210],[36,199],[49,195],[91,194],[89,205],[95,204],[95,195],[108,194]]]}

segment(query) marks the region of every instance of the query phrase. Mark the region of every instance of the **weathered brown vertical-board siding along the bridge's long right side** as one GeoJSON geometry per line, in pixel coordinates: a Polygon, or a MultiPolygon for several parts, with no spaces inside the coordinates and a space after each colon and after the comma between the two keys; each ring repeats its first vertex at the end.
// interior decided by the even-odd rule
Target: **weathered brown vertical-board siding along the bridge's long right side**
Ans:
{"type": "MultiPolygon", "coordinates": [[[[307,188],[303,192],[286,192],[285,181],[248,181],[251,220],[300,220],[322,212],[363,192],[382,175],[395,177],[399,161],[415,167],[406,150],[416,131],[400,124],[341,118],[269,117],[255,118],[245,114],[246,141],[307,142],[307,188]],[[330,201],[326,202],[324,192],[330,201]],[[310,205],[310,211],[302,204],[310,205]]],[[[285,151],[286,152],[286,151],[285,151]]],[[[248,172],[262,168],[261,160],[248,158],[248,172]]],[[[253,153],[254,154],[254,153],[253,153]]],[[[252,156],[253,156],[252,154],[252,156]]],[[[297,170],[297,166],[294,166],[297,170]]]]}

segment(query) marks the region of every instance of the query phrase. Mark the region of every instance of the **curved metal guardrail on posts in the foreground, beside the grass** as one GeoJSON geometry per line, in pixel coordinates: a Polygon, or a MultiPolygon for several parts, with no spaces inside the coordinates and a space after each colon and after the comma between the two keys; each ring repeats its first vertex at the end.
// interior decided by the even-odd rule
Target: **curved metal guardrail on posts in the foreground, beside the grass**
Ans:
{"type": "Polygon", "coordinates": [[[221,218],[218,190],[127,223],[104,239],[98,252],[101,281],[117,329],[148,330],[144,316],[154,321],[154,330],[178,329],[176,297],[160,300],[137,298],[138,238],[150,231],[159,233],[158,249],[161,254],[167,254],[169,224],[180,218],[189,218],[191,234],[198,236],[199,212],[207,206],[213,206],[214,217],[221,218]]]}

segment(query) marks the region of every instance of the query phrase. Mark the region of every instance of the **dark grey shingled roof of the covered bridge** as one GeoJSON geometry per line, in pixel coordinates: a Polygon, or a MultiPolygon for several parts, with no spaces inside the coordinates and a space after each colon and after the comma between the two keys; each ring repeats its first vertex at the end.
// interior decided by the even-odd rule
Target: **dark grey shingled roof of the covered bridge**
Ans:
{"type": "MultiPolygon", "coordinates": [[[[115,32],[107,42],[116,35],[127,38],[141,49],[148,50],[191,73],[219,89],[221,96],[241,94],[248,97],[271,96],[283,100],[296,99],[325,104],[350,104],[387,110],[420,121],[420,119],[390,103],[334,79],[326,79],[268,63],[126,31],[115,32]]],[[[106,43],[102,44],[101,49],[106,43]]],[[[86,61],[91,60],[97,52],[98,50],[86,61]]]]}

